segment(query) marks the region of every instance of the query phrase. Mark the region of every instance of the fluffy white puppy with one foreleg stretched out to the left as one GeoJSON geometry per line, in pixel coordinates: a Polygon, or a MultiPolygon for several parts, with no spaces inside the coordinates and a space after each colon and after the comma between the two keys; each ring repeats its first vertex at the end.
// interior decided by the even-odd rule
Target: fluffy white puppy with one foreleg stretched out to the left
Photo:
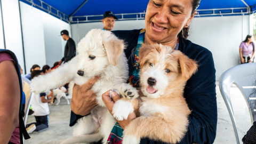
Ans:
{"type": "Polygon", "coordinates": [[[89,143],[99,141],[106,143],[116,121],[102,101],[101,95],[108,90],[117,89],[123,99],[115,103],[113,114],[116,118],[126,119],[132,113],[123,108],[123,103],[132,97],[137,98],[137,91],[129,84],[123,84],[128,78],[127,59],[123,52],[124,42],[110,31],[92,29],[78,43],[78,55],[50,74],[34,78],[30,84],[31,92],[41,93],[59,85],[69,84],[72,95],[74,84],[83,85],[90,78],[100,76],[91,90],[97,94],[98,106],[89,116],[79,119],[73,135],[62,143],[89,143]],[[49,83],[50,81],[50,83],[49,83]],[[116,108],[116,109],[115,109],[116,108]]]}

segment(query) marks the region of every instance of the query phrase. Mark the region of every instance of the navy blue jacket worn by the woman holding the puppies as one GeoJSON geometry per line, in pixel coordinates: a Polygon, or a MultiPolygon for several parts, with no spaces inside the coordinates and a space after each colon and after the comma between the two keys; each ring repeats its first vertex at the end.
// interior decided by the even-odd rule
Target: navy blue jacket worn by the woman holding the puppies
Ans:
{"type": "MultiPolygon", "coordinates": [[[[127,48],[124,51],[128,59],[129,75],[131,76],[133,70],[131,52],[138,43],[140,30],[117,30],[113,33],[126,42],[127,48]]],[[[190,59],[196,60],[199,65],[197,73],[187,81],[185,86],[184,97],[191,114],[189,115],[188,132],[179,143],[213,143],[217,130],[217,98],[215,92],[216,70],[212,53],[187,39],[181,37],[179,39],[179,50],[190,59]]],[[[73,119],[73,121],[70,121],[70,124],[74,124],[77,118],[74,113],[71,114],[70,120],[73,119]]],[[[141,139],[140,143],[164,144],[164,142],[147,138],[141,139]]]]}

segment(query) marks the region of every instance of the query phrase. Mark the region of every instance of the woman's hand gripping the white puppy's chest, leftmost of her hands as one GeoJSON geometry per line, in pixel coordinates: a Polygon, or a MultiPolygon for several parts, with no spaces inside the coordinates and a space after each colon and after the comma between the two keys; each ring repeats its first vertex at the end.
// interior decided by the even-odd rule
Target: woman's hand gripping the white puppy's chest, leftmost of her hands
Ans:
{"type": "Polygon", "coordinates": [[[85,116],[91,113],[91,110],[98,105],[97,95],[91,90],[99,77],[89,79],[84,85],[75,84],[73,87],[73,94],[71,100],[71,110],[76,115],[85,116]]]}

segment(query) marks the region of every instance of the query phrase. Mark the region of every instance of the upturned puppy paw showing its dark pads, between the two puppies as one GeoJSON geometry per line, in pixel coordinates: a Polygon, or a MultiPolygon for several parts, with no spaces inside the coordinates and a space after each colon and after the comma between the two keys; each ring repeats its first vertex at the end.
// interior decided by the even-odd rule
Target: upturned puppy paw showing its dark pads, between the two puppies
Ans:
{"type": "Polygon", "coordinates": [[[121,98],[126,99],[135,99],[139,97],[138,90],[135,87],[132,87],[130,84],[123,83],[118,92],[120,93],[121,98]]]}

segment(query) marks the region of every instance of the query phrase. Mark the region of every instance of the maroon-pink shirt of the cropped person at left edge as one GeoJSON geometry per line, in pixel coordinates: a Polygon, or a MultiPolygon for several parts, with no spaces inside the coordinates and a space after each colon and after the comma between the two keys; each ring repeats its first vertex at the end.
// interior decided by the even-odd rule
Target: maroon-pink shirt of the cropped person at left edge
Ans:
{"type": "MultiPolygon", "coordinates": [[[[0,53],[0,62],[5,60],[11,60],[15,63],[15,61],[12,59],[11,55],[8,53],[0,53]]],[[[15,127],[12,137],[10,139],[10,142],[15,144],[20,144],[20,130],[19,130],[19,124],[17,127],[15,127]]]]}

